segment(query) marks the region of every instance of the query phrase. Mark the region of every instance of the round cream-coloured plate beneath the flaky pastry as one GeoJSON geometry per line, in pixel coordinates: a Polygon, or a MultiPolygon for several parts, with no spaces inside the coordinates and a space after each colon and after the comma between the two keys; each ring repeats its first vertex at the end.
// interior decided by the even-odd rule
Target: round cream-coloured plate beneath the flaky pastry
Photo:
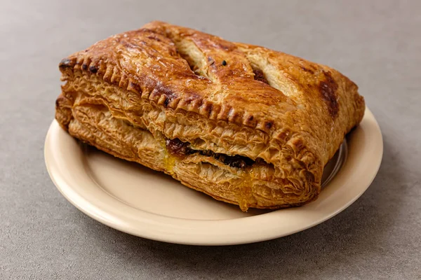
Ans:
{"type": "Polygon", "coordinates": [[[83,213],[132,235],[196,245],[274,239],[322,223],[370,186],[382,152],[380,128],[367,109],[361,125],[326,166],[318,200],[298,208],[244,213],[170,176],[81,145],[55,121],[45,144],[51,179],[83,213]]]}

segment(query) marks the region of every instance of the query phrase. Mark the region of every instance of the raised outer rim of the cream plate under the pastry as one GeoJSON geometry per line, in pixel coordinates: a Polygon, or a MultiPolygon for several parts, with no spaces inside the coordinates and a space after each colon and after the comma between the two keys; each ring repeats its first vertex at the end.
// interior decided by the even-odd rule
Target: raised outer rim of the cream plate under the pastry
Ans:
{"type": "MultiPolygon", "coordinates": [[[[53,120],[51,123],[44,144],[44,160],[46,163],[46,169],[48,174],[55,184],[56,188],[60,191],[60,193],[71,203],[82,211],[84,214],[90,216],[91,218],[103,223],[110,228],[114,228],[116,230],[120,230],[121,232],[126,232],[131,235],[135,235],[138,237],[143,237],[147,239],[154,239],[157,241],[166,241],[169,243],[176,243],[176,244],[189,244],[189,245],[234,245],[234,244],[247,244],[253,243],[257,241],[265,241],[269,239],[275,239],[279,237],[284,237],[287,235],[292,235],[296,232],[300,232],[302,230],[307,230],[308,228],[312,228],[315,225],[319,225],[324,221],[332,218],[333,216],[339,214],[341,211],[345,210],[349,205],[354,203],[370,186],[370,184],[375,179],[375,176],[380,168],[382,162],[382,155],[383,155],[383,140],[382,140],[382,133],[380,131],[380,126],[375,120],[373,113],[366,108],[363,120],[357,127],[356,130],[364,130],[363,135],[360,137],[366,138],[366,141],[371,143],[365,142],[365,144],[372,144],[377,143],[374,146],[372,164],[371,169],[368,169],[366,176],[363,176],[363,181],[359,182],[363,186],[360,186],[358,190],[354,190],[352,197],[350,197],[345,203],[343,203],[340,207],[334,207],[334,209],[330,209],[328,214],[321,214],[323,212],[323,205],[321,204],[320,199],[322,195],[328,195],[328,187],[330,185],[338,185],[340,182],[338,181],[340,178],[340,174],[343,175],[344,170],[347,167],[347,162],[349,161],[349,152],[351,151],[351,147],[348,144],[348,158],[342,165],[341,169],[339,170],[338,174],[327,184],[325,189],[322,191],[319,199],[311,202],[309,204],[305,204],[302,207],[298,208],[290,208],[290,209],[280,209],[277,211],[272,211],[267,214],[261,214],[258,216],[250,216],[250,217],[243,217],[243,218],[235,218],[235,219],[227,219],[227,220],[190,220],[185,218],[175,218],[175,217],[168,217],[168,216],[161,216],[159,214],[152,214],[147,211],[142,211],[140,209],[136,209],[139,212],[142,212],[142,216],[135,218],[132,216],[119,216],[119,214],[113,213],[113,209],[105,207],[105,204],[101,202],[101,200],[95,200],[95,202],[90,202],[87,197],[86,193],[78,193],[69,182],[64,178],[63,174],[59,172],[59,168],[57,165],[57,159],[54,159],[53,153],[53,137],[54,133],[59,133],[57,130],[62,128],[58,125],[56,120],[53,120]],[[368,126],[368,128],[366,128],[368,126]],[[364,134],[367,132],[367,134],[364,134]],[[324,192],[324,193],[323,193],[324,192]],[[291,220],[294,216],[300,216],[303,218],[300,222],[296,222],[291,220]],[[305,215],[305,218],[303,217],[305,215]],[[285,222],[288,221],[290,223],[289,228],[282,228],[276,223],[271,222],[285,222]],[[260,226],[263,225],[262,230],[260,226]],[[292,226],[291,226],[292,225],[292,226]],[[256,226],[259,226],[256,228],[256,226]],[[265,228],[266,227],[266,228],[265,228]],[[210,229],[210,230],[209,230],[210,229]],[[240,230],[239,230],[240,229],[240,230]],[[217,231],[218,230],[218,231],[217,231]],[[229,235],[224,235],[227,233],[227,230],[232,230],[229,235]],[[210,232],[213,232],[211,234],[210,232]]],[[[355,132],[351,133],[355,134],[355,132]]],[[[359,132],[361,134],[361,132],[359,132]]],[[[347,140],[348,141],[348,140],[347,140]]],[[[370,145],[369,145],[370,146],[370,145]]],[[[373,148],[373,147],[372,147],[373,148]]],[[[367,148],[366,148],[367,149],[367,148]]],[[[359,151],[361,153],[361,151],[359,151]]],[[[363,158],[367,157],[368,155],[363,155],[363,158]]],[[[347,167],[349,169],[349,167],[347,167]]],[[[351,174],[352,175],[352,174],[351,174]]],[[[345,176],[346,177],[346,176],[345,176]]],[[[349,177],[349,175],[348,175],[349,177]]],[[[94,181],[95,182],[95,181],[94,181]]],[[[96,182],[95,182],[96,183],[96,182]]],[[[347,181],[342,182],[347,183],[347,181]]],[[[340,186],[333,186],[330,190],[338,191],[340,186]],[[335,187],[335,188],[334,188],[335,187]]],[[[345,188],[345,187],[342,187],[345,188]]],[[[100,188],[102,190],[102,188],[100,188]]],[[[339,189],[340,190],[340,189],[339,189]]],[[[104,192],[105,193],[105,192],[104,192]]],[[[105,193],[105,196],[109,196],[108,193],[105,193]]],[[[103,199],[107,199],[107,197],[102,197],[103,199]]],[[[114,198],[115,200],[115,198],[114,198]]],[[[329,200],[329,197],[328,197],[329,200]]],[[[119,202],[120,204],[126,205],[123,202],[119,202]]],[[[125,208],[123,205],[120,207],[125,208]]],[[[329,206],[329,205],[327,205],[329,206]]],[[[129,210],[129,209],[126,209],[129,210]]],[[[130,211],[130,210],[129,210],[130,211]]],[[[121,211],[120,211],[121,212],[121,211]]],[[[283,224],[282,224],[283,225],[283,224]]]]}

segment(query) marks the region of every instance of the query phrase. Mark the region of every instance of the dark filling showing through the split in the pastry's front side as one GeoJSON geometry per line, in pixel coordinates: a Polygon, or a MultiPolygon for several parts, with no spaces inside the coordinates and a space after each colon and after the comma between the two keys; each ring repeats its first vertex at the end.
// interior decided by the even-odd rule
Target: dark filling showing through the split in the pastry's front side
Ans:
{"type": "Polygon", "coordinates": [[[255,163],[255,160],[252,160],[241,155],[225,155],[223,153],[213,153],[212,151],[201,151],[194,150],[190,147],[188,142],[183,142],[178,138],[175,139],[166,139],[166,150],[171,155],[178,157],[184,157],[186,155],[192,155],[194,153],[199,153],[200,155],[205,155],[208,157],[213,157],[220,162],[223,162],[225,165],[230,167],[236,167],[244,169],[250,167],[255,163]]]}

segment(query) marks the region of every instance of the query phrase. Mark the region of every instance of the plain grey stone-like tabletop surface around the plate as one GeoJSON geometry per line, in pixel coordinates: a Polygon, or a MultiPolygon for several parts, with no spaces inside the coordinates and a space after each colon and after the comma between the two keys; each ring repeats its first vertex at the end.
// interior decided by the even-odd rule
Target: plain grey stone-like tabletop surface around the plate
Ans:
{"type": "Polygon", "coordinates": [[[35,2],[0,6],[0,279],[421,279],[421,1],[35,2]],[[149,241],[81,214],[44,167],[58,62],[154,19],[352,78],[384,135],[373,185],[326,223],[242,246],[149,241]]]}

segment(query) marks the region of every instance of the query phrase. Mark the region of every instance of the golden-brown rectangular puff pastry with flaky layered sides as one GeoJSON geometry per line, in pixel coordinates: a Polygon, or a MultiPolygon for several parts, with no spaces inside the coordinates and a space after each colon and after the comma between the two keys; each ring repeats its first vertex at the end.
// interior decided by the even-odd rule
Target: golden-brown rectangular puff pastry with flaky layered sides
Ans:
{"type": "Polygon", "coordinates": [[[283,52],[151,22],[62,59],[55,118],[73,137],[217,200],[315,200],[363,118],[357,86],[283,52]]]}

